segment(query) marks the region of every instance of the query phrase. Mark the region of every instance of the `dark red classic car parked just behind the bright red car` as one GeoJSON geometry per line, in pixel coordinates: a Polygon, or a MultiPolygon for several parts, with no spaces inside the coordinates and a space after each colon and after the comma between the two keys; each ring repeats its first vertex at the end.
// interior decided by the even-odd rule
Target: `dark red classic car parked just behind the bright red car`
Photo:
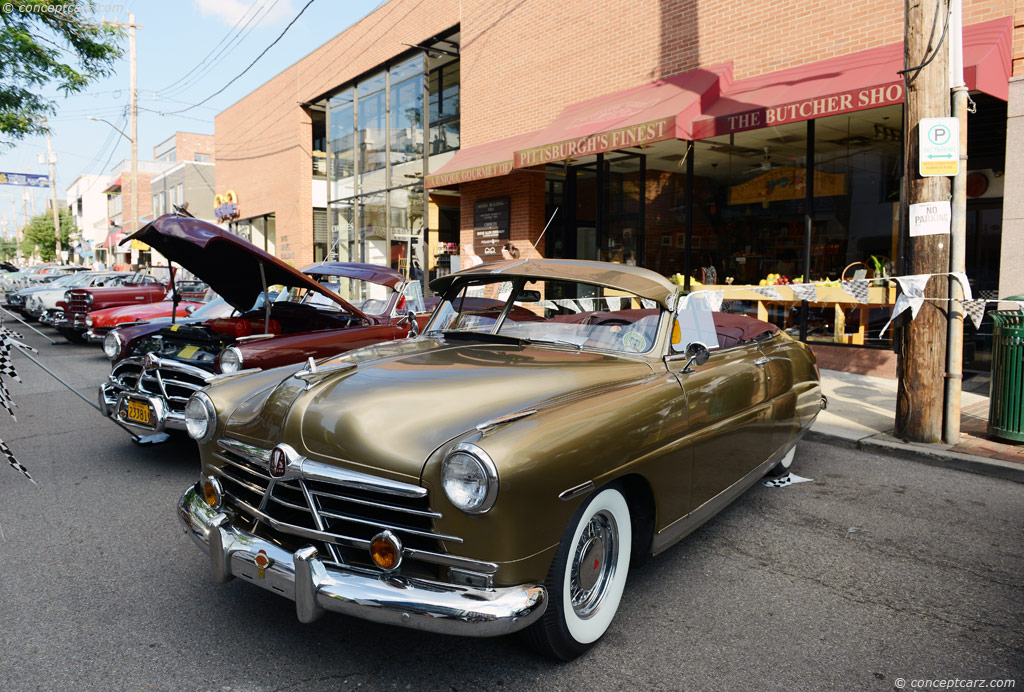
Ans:
{"type": "MultiPolygon", "coordinates": [[[[54,327],[68,341],[81,344],[85,341],[85,332],[88,330],[85,316],[89,312],[108,307],[143,305],[163,300],[171,294],[169,277],[168,267],[148,267],[135,272],[118,287],[71,289],[57,304],[57,307],[63,310],[63,315],[57,318],[54,327]]],[[[193,288],[194,283],[189,282],[187,286],[193,288]]],[[[202,296],[205,291],[205,287],[202,290],[194,288],[190,293],[179,291],[179,295],[202,296]]]]}

